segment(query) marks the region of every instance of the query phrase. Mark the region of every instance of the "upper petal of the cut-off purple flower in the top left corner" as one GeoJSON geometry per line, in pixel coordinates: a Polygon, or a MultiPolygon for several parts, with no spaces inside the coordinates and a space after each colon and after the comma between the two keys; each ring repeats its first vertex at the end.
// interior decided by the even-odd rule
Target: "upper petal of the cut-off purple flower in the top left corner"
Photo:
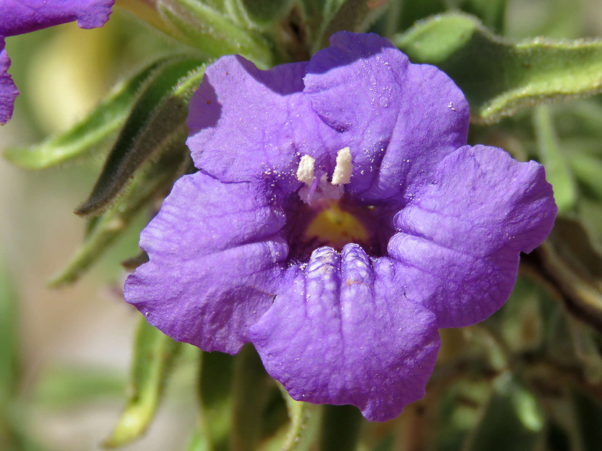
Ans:
{"type": "Polygon", "coordinates": [[[77,20],[97,28],[109,20],[114,0],[2,0],[0,35],[14,36],[77,20]]]}

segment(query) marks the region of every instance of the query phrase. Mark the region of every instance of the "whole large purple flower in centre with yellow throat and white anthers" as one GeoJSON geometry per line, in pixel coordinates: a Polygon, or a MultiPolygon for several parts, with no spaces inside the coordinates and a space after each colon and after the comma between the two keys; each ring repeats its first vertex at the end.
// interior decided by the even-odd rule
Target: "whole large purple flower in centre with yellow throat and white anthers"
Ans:
{"type": "Polygon", "coordinates": [[[438,328],[500,308],[556,216],[544,168],[466,146],[468,118],[447,75],[374,34],[267,71],[220,58],[190,103],[199,171],[141,233],[126,300],[206,351],[252,342],[294,399],[397,416],[438,328]]]}

